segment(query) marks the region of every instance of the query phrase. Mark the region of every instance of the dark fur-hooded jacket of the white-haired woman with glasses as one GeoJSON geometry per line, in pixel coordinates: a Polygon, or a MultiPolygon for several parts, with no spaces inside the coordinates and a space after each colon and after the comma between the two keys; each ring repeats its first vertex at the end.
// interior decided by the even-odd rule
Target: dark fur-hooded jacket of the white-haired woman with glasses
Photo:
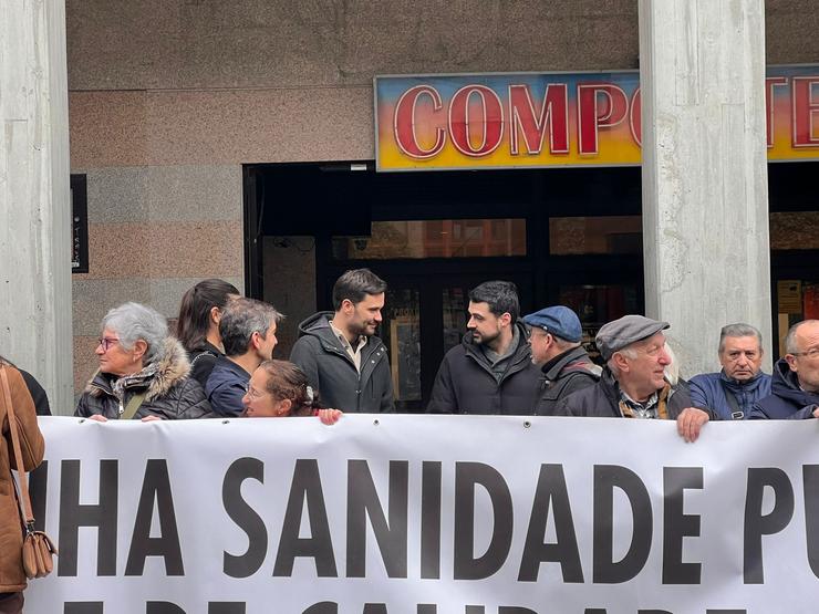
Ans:
{"type": "Polygon", "coordinates": [[[117,419],[134,394],[147,391],[134,418],[158,416],[175,420],[210,417],[212,414],[205,391],[196,379],[188,377],[190,363],[185,348],[173,337],[166,339],[164,343],[165,355],[159,360],[156,374],[147,382],[125,388],[122,404],[113,393],[116,376],[97,372],[85,386],[74,415],[89,417],[99,414],[108,419],[117,419]]]}

